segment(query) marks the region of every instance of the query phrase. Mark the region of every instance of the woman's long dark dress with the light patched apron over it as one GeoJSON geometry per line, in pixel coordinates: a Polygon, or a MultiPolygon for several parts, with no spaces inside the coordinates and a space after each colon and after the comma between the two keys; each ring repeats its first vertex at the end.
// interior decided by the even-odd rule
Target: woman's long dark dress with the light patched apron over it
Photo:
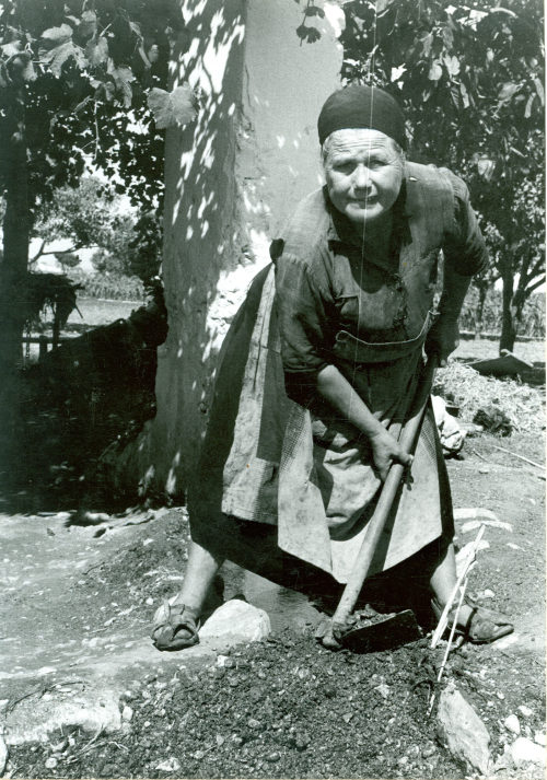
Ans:
{"type": "MultiPolygon", "coordinates": [[[[440,251],[464,276],[486,263],[467,189],[446,170],[407,163],[393,217],[387,260],[356,243],[325,190],[301,201],[274,242],[274,264],[255,278],[221,353],[189,494],[191,534],[203,546],[224,542],[235,557],[229,517],[277,526],[281,550],[347,581],[381,482],[366,439],[315,393],[317,372],[335,364],[397,435],[422,364],[440,251]]],[[[372,573],[453,533],[429,410],[372,573]]]]}

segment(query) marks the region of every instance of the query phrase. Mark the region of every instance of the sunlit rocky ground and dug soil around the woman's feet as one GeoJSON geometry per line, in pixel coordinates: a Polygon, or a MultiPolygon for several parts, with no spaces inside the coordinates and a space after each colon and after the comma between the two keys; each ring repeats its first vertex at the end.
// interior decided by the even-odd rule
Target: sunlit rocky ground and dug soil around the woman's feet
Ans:
{"type": "MultiPolygon", "coordinates": [[[[539,778],[545,481],[514,453],[543,461],[543,435],[481,434],[464,452],[449,462],[455,507],[485,508],[502,521],[486,527],[488,546],[469,590],[511,615],[515,633],[454,652],[445,682],[489,732],[489,773],[539,778]]],[[[459,547],[477,533],[473,516],[456,522],[459,547]]],[[[80,526],[65,513],[0,522],[5,777],[480,773],[445,748],[437,705],[427,714],[434,690],[439,702],[434,679],[444,644],[431,651],[422,639],[382,653],[331,653],[313,639],[318,615],[305,599],[257,586],[231,567],[226,597],[243,591],[266,607],[272,633],[243,644],[233,636],[206,638],[191,650],[160,654],[149,624],[184,575],[186,513],[175,508],[95,521],[80,526]]]]}

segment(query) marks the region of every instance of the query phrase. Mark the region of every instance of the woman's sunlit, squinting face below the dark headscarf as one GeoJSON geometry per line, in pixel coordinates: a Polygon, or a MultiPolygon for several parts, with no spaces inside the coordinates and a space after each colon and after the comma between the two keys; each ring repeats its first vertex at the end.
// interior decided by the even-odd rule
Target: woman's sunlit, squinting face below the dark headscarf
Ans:
{"type": "Polygon", "coordinates": [[[354,224],[385,214],[400,190],[403,156],[380,130],[336,130],[325,141],[324,166],[333,205],[354,224]]]}

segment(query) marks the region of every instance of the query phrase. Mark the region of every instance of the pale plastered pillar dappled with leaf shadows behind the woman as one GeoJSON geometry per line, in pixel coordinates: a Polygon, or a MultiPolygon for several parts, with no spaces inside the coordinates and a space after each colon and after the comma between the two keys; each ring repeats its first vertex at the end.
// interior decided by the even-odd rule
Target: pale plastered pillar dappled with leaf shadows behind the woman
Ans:
{"type": "Polygon", "coordinates": [[[268,263],[269,241],[319,186],[315,123],[341,66],[334,3],[321,40],[302,45],[294,0],[183,0],[181,9],[173,82],[189,81],[201,105],[195,123],[167,133],[170,333],[159,350],[158,416],[137,458],[141,479],[174,494],[196,462],[228,323],[268,263]]]}

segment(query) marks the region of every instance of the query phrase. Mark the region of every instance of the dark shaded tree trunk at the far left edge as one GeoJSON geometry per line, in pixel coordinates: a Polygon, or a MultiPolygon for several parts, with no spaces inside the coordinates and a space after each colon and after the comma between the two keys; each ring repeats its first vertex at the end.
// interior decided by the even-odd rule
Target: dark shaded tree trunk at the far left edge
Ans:
{"type": "Polygon", "coordinates": [[[21,359],[28,263],[28,184],[24,85],[13,89],[2,140],[7,154],[3,258],[0,266],[0,368],[12,372],[21,359]]]}

